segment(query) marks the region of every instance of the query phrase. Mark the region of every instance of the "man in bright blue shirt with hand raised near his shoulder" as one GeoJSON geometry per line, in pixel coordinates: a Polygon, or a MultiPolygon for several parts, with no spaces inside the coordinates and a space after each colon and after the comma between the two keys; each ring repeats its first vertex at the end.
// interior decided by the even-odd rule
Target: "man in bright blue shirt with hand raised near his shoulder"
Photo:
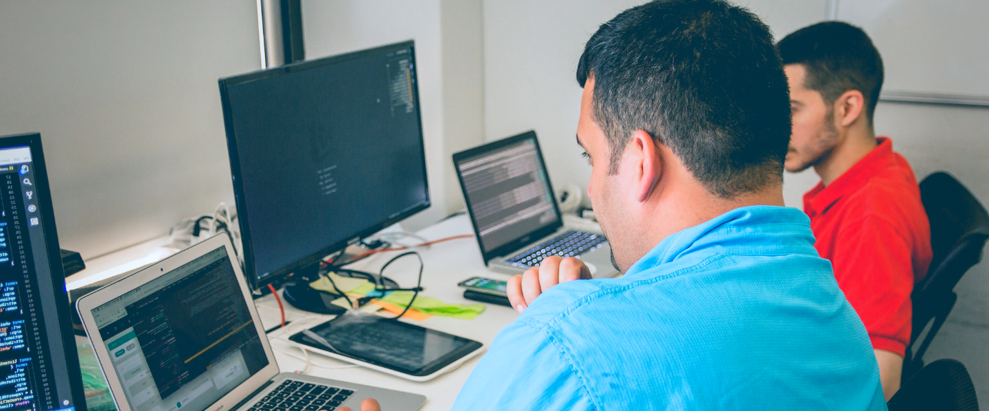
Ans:
{"type": "Polygon", "coordinates": [[[571,281],[584,264],[552,257],[512,278],[521,315],[454,409],[885,409],[861,321],[783,207],[768,28],[721,0],[654,1],[598,29],[578,81],[587,192],[625,275],[571,281]]]}

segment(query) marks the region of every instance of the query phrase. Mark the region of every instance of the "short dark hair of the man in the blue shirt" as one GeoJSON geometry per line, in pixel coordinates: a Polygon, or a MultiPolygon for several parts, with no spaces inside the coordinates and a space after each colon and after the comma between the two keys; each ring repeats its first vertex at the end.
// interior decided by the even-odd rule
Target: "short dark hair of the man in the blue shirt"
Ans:
{"type": "Polygon", "coordinates": [[[577,81],[594,80],[592,118],[609,173],[636,130],[667,145],[725,199],[780,184],[790,139],[786,76],[769,28],[721,0],[657,0],[601,25],[577,81]]]}

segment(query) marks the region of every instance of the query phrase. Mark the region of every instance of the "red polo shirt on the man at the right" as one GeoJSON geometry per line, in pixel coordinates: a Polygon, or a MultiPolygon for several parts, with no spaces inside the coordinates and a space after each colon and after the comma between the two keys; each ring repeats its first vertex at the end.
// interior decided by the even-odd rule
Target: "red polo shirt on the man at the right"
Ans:
{"type": "Polygon", "coordinates": [[[910,164],[887,137],[827,187],[804,195],[821,257],[865,324],[872,348],[903,356],[910,293],[931,265],[931,226],[910,164]]]}

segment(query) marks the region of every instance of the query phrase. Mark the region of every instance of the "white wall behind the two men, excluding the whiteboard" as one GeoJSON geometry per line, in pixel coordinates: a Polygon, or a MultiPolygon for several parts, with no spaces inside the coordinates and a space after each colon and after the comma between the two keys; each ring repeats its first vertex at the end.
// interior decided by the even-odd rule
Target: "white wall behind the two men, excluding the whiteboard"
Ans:
{"type": "MultiPolygon", "coordinates": [[[[589,167],[574,142],[581,88],[575,79],[584,41],[598,25],[643,0],[486,0],[485,138],[534,128],[557,187],[586,187],[589,167]]],[[[740,0],[764,18],[777,39],[824,20],[826,0],[740,0]]],[[[972,39],[978,46],[981,39],[972,39]]],[[[882,50],[879,50],[882,52],[882,50]]],[[[985,86],[985,84],[980,85],[985,86]]],[[[876,131],[893,137],[918,178],[947,170],[989,205],[989,110],[880,103],[876,131]]],[[[786,174],[787,206],[819,179],[812,170],[786,174]]],[[[959,300],[926,358],[954,358],[968,366],[989,397],[989,263],[974,267],[957,288],[959,300]]]]}

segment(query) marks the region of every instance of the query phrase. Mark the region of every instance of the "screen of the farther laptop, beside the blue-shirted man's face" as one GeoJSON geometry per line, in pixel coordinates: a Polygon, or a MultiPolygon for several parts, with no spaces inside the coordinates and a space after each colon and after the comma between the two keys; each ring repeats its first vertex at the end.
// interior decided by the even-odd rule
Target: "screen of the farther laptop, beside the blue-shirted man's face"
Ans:
{"type": "Polygon", "coordinates": [[[522,135],[528,137],[457,162],[486,252],[561,221],[536,133],[522,135]]]}

